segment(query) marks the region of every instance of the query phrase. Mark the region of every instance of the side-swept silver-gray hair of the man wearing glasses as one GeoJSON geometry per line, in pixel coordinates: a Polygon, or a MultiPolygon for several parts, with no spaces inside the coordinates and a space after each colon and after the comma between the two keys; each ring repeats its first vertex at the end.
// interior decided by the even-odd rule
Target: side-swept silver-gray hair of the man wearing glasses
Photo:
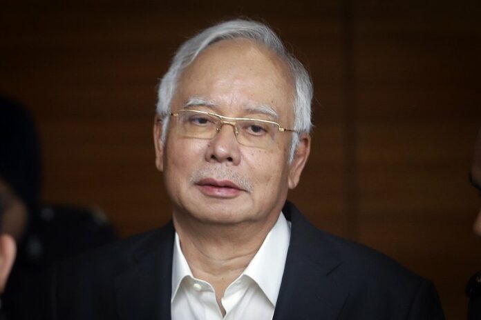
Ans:
{"type": "Polygon", "coordinates": [[[211,44],[227,39],[249,39],[260,43],[268,49],[279,54],[287,63],[294,79],[294,130],[292,134],[289,161],[294,158],[296,146],[299,143],[299,134],[308,134],[312,128],[311,101],[312,82],[310,76],[299,60],[287,52],[281,39],[263,23],[236,19],[218,23],[185,41],[173,57],[171,66],[162,80],[158,90],[157,113],[162,117],[162,143],[165,142],[171,101],[176,93],[178,80],[182,72],[198,57],[200,52],[211,44]]]}

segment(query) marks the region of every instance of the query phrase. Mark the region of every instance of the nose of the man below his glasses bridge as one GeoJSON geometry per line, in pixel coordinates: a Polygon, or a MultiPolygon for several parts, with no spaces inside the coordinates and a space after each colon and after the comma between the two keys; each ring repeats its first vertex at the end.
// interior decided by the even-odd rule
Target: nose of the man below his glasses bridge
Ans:
{"type": "Polygon", "coordinates": [[[217,134],[210,140],[205,158],[209,162],[227,162],[234,166],[238,165],[241,160],[241,152],[233,123],[224,122],[220,124],[217,134]]]}

